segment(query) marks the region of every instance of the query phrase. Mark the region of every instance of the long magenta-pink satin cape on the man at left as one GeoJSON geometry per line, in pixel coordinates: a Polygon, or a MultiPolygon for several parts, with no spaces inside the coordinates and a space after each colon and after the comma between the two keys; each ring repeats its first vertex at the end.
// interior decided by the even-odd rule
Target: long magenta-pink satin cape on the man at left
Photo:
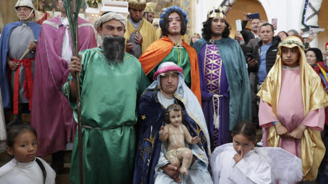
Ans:
{"type": "MultiPolygon", "coordinates": [[[[78,25],[79,51],[96,47],[92,25],[80,17],[78,25]]],[[[60,15],[46,20],[36,50],[30,124],[38,133],[40,157],[64,150],[67,142],[73,142],[76,131],[73,110],[61,92],[70,73],[61,57],[64,35],[60,15]]],[[[71,34],[69,37],[74,52],[71,34]]]]}

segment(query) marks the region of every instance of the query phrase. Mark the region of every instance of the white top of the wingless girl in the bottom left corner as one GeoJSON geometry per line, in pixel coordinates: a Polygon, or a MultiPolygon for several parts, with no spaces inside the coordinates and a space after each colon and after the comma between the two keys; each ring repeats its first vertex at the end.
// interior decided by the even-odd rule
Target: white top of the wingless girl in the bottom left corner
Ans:
{"type": "MultiPolygon", "coordinates": [[[[47,173],[45,184],[55,184],[56,172],[39,158],[47,173]]],[[[13,158],[0,168],[0,184],[44,184],[43,174],[35,159],[29,163],[18,162],[13,158]]]]}

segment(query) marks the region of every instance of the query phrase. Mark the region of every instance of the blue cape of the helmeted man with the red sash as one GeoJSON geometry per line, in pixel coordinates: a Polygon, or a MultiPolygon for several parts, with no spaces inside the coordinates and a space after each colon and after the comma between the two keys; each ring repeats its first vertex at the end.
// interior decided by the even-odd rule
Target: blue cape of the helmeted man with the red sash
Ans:
{"type": "MultiPolygon", "coordinates": [[[[9,49],[10,33],[12,32],[13,28],[21,26],[22,24],[23,23],[19,21],[7,24],[2,29],[2,34],[0,38],[0,88],[4,109],[9,109],[12,105],[7,73],[7,54],[9,49]]],[[[39,40],[41,25],[35,22],[27,23],[26,25],[32,29],[35,39],[39,40]]]]}

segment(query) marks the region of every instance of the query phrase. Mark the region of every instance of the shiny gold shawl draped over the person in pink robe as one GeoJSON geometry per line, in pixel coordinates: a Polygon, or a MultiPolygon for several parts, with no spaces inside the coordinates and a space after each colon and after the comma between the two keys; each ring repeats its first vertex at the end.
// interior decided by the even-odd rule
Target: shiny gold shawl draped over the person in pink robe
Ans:
{"type": "MultiPolygon", "coordinates": [[[[304,117],[309,111],[328,106],[328,95],[321,85],[318,74],[306,62],[304,46],[301,40],[295,36],[289,36],[279,43],[276,62],[268,73],[267,78],[261,85],[257,93],[263,101],[271,105],[273,113],[277,116],[277,106],[280,96],[282,80],[282,47],[298,47],[300,86],[302,91],[304,117]]],[[[303,117],[303,118],[304,118],[303,117]]],[[[268,144],[271,147],[279,146],[280,136],[274,126],[269,128],[268,144]]],[[[301,139],[301,160],[303,166],[304,180],[314,180],[316,178],[319,165],[325,155],[325,146],[321,140],[320,132],[306,128],[301,139]]]]}

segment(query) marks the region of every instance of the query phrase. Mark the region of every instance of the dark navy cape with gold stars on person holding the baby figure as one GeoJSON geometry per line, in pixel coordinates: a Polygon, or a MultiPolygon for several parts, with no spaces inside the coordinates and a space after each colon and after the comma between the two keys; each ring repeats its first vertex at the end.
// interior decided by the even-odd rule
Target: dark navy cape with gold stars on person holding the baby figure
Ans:
{"type": "MultiPolygon", "coordinates": [[[[159,90],[151,90],[144,93],[140,98],[138,107],[138,137],[137,152],[135,156],[134,184],[153,184],[155,166],[160,157],[162,142],[159,140],[159,131],[165,126],[164,114],[166,109],[157,99],[159,90]]],[[[209,147],[205,133],[198,124],[188,115],[181,101],[176,99],[185,117],[182,123],[188,128],[192,137],[197,136],[202,140],[197,145],[208,153],[209,147]],[[199,134],[198,134],[199,133],[199,134]]],[[[209,157],[209,155],[207,155],[209,157]]]]}

